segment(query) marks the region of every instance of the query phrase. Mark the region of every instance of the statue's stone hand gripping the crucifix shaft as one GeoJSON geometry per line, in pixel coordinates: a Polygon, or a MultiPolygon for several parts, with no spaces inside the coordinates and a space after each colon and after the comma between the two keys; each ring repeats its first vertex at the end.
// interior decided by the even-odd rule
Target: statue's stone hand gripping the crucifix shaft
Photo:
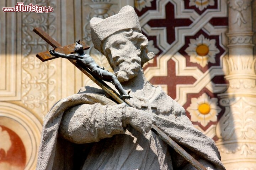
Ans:
{"type": "Polygon", "coordinates": [[[153,115],[148,112],[133,107],[127,107],[125,122],[131,125],[135,130],[146,134],[153,128],[155,120],[153,115]]]}

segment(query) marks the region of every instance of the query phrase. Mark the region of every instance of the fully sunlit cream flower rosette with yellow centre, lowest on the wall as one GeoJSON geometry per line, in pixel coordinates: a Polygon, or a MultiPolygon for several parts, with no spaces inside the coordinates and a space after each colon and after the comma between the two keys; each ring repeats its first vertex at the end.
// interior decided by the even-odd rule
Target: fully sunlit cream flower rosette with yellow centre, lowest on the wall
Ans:
{"type": "Polygon", "coordinates": [[[221,108],[217,106],[218,99],[210,98],[206,93],[198,98],[191,98],[191,104],[187,108],[191,116],[191,121],[199,122],[204,127],[210,121],[217,121],[217,115],[221,108]]]}

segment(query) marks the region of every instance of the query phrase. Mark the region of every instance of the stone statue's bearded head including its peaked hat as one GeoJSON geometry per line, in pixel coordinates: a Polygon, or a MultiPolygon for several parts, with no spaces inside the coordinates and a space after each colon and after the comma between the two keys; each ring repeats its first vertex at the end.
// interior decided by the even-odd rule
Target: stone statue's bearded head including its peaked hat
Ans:
{"type": "Polygon", "coordinates": [[[95,49],[107,57],[120,82],[135,77],[143,64],[154,55],[146,54],[148,39],[141,33],[133,7],[125,6],[118,14],[90,21],[95,49]]]}

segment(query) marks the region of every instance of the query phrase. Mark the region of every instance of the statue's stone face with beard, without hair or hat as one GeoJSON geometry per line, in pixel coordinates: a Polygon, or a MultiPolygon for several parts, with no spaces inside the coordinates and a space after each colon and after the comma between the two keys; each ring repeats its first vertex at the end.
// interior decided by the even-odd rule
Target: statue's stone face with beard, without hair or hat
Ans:
{"type": "Polygon", "coordinates": [[[140,49],[124,35],[114,34],[106,40],[105,49],[119,82],[137,76],[141,69],[140,49]]]}

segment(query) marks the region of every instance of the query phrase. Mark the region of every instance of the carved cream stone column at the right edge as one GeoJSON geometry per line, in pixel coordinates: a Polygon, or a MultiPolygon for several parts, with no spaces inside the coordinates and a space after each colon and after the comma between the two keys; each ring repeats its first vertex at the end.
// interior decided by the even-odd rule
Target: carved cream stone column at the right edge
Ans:
{"type": "Polygon", "coordinates": [[[225,113],[217,146],[227,170],[256,170],[256,87],[252,42],[252,0],[228,0],[228,89],[219,94],[225,113]]]}

